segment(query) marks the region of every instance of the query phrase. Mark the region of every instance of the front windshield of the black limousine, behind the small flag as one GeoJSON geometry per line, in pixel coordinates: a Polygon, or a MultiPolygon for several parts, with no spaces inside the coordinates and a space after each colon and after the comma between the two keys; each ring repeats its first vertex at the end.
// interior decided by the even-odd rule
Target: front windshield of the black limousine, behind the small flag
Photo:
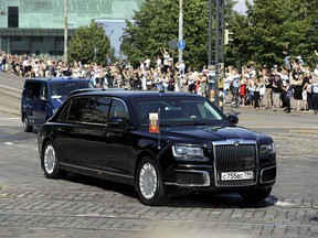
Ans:
{"type": "Polygon", "coordinates": [[[229,125],[206,99],[160,98],[134,104],[142,126],[149,125],[149,113],[159,112],[160,126],[222,126],[229,125]]]}

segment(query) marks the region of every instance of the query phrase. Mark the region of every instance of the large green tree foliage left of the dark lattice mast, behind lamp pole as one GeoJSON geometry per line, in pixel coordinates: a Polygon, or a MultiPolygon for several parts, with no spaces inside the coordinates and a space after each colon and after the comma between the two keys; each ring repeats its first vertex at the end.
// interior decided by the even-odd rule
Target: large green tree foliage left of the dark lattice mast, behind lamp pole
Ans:
{"type": "MultiPolygon", "coordinates": [[[[160,47],[172,55],[169,42],[179,36],[179,1],[146,0],[132,19],[135,23],[128,23],[121,44],[129,60],[161,56],[160,47]]],[[[202,67],[208,57],[206,0],[183,0],[183,40],[187,46],[182,57],[188,66],[202,67]]],[[[173,56],[176,60],[178,50],[173,56]]]]}

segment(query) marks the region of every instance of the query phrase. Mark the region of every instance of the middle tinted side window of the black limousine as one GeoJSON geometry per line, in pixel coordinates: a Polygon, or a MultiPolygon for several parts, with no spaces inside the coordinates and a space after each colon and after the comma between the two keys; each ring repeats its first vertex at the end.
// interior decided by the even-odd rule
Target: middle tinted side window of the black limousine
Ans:
{"type": "Polygon", "coordinates": [[[110,98],[96,97],[87,100],[84,121],[92,123],[106,123],[110,98]]]}

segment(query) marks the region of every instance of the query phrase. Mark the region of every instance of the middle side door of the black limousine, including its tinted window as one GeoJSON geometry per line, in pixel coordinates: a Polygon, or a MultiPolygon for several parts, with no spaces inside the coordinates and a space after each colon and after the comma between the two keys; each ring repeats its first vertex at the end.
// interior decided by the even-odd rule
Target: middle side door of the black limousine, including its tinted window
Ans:
{"type": "Polygon", "coordinates": [[[100,170],[104,160],[102,141],[104,127],[110,106],[109,97],[89,97],[87,99],[83,123],[78,131],[78,161],[89,169],[100,170]]]}

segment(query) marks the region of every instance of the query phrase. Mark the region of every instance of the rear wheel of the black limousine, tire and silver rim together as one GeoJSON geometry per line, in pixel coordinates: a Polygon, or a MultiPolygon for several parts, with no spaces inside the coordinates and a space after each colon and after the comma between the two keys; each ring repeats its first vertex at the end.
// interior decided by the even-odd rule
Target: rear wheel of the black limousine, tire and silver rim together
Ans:
{"type": "Polygon", "coordinates": [[[43,147],[41,162],[45,177],[59,178],[62,176],[63,171],[60,169],[60,163],[56,156],[55,148],[50,141],[46,142],[45,145],[43,147]]]}

